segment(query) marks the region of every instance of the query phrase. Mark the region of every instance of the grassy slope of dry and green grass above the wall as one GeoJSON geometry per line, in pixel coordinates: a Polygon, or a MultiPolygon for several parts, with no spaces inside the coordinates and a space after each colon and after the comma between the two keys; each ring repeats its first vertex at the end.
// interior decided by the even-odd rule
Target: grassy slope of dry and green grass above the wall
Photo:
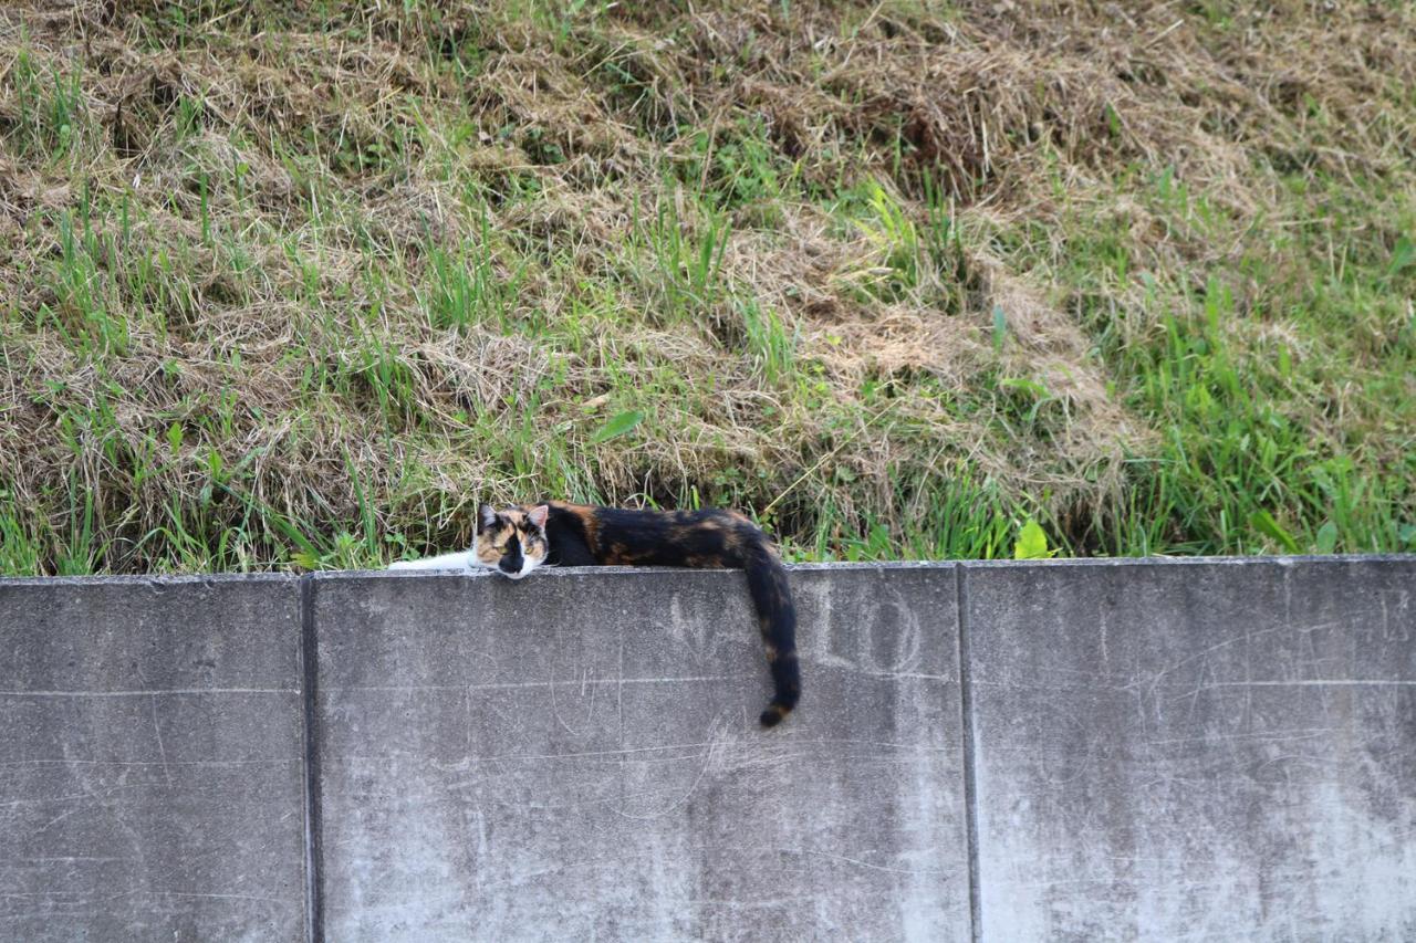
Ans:
{"type": "Polygon", "coordinates": [[[0,10],[0,572],[1416,549],[1410,4],[180,6],[0,10]]]}

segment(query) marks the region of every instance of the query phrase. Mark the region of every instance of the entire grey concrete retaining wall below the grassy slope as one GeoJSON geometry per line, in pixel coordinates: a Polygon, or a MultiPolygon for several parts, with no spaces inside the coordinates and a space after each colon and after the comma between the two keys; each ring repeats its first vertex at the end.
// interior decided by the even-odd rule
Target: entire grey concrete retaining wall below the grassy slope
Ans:
{"type": "Polygon", "coordinates": [[[0,939],[1416,936],[1416,558],[0,581],[0,939]]]}

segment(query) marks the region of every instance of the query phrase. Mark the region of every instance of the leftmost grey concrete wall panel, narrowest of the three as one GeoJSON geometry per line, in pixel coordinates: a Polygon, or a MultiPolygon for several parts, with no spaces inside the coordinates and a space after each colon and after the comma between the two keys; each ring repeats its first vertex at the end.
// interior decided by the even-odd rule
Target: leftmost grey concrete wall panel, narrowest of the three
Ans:
{"type": "Polygon", "coordinates": [[[293,579],[0,581],[0,939],[300,939],[293,579]]]}

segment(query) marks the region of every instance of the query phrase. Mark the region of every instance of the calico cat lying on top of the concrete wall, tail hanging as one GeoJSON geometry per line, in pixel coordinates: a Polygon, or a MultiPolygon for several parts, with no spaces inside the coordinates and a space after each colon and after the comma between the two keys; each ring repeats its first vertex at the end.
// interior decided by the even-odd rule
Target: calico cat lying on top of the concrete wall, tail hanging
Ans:
{"type": "Polygon", "coordinates": [[[480,504],[470,549],[401,561],[391,569],[484,568],[523,579],[542,564],[745,569],[776,688],[762,725],[780,724],[801,697],[786,571],[772,538],[736,511],[629,511],[564,501],[497,511],[480,504]]]}

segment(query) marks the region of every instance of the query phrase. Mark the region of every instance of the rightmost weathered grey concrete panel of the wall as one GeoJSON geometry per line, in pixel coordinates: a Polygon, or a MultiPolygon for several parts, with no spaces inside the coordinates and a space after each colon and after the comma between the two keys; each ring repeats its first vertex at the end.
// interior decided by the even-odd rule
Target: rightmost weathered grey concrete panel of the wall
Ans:
{"type": "Polygon", "coordinates": [[[966,568],[984,939],[1416,939],[1413,595],[1413,558],[966,568]]]}

